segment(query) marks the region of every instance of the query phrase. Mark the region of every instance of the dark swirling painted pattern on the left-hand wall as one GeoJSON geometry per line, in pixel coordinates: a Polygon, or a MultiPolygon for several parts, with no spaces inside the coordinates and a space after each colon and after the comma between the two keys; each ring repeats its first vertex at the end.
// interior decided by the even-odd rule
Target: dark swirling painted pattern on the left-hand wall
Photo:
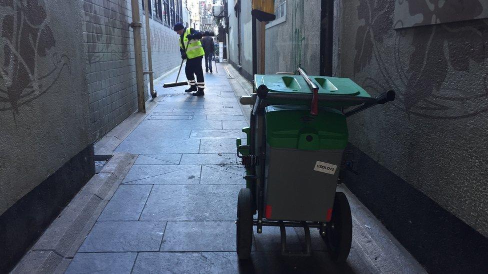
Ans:
{"type": "Polygon", "coordinates": [[[56,51],[42,0],[0,0],[0,111],[18,113],[21,105],[45,94],[69,58],[56,51]]]}

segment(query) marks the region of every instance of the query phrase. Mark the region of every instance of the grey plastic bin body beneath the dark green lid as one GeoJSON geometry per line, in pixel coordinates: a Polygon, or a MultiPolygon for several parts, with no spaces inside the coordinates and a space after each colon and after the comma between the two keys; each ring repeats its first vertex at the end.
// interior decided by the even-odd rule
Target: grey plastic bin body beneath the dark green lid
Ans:
{"type": "Polygon", "coordinates": [[[325,222],[334,202],[343,150],[296,150],[267,146],[264,204],[270,220],[325,222]],[[336,165],[316,171],[317,161],[336,165]]]}

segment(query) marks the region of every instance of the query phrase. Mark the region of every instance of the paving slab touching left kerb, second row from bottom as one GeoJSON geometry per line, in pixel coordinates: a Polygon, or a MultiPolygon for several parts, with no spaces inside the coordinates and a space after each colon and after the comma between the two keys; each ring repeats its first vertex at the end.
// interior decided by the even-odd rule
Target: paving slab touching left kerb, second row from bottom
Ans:
{"type": "Polygon", "coordinates": [[[96,222],[78,252],[158,251],[166,222],[96,222]]]}

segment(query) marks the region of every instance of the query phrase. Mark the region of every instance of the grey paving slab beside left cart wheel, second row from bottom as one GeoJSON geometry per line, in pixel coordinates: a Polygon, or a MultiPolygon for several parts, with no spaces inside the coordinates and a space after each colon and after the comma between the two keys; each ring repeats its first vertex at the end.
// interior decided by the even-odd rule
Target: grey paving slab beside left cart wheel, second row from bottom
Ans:
{"type": "Polygon", "coordinates": [[[168,222],[160,251],[235,252],[235,222],[168,222]]]}

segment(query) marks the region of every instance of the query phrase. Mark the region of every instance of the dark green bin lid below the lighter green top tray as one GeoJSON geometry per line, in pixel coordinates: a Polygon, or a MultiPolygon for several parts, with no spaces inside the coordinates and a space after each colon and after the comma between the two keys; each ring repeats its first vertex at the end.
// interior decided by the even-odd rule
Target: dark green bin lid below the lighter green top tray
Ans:
{"type": "Polygon", "coordinates": [[[299,150],[344,149],[345,116],[333,108],[319,108],[310,115],[304,105],[271,105],[265,108],[266,141],[272,148],[299,150]]]}

